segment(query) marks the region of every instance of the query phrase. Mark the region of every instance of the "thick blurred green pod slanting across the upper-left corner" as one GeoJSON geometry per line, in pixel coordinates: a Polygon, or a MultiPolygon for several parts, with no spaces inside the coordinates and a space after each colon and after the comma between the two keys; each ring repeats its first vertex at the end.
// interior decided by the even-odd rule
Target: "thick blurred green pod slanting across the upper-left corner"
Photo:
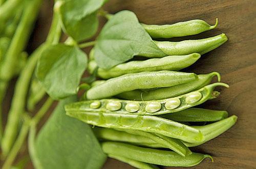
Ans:
{"type": "MultiPolygon", "coordinates": [[[[10,1],[10,0],[9,0],[10,1]]],[[[29,39],[32,26],[39,12],[42,0],[30,1],[22,15],[22,19],[13,36],[6,58],[0,68],[0,79],[9,81],[14,75],[19,54],[24,50],[29,39]]],[[[0,15],[1,16],[1,15],[0,15]]]]}

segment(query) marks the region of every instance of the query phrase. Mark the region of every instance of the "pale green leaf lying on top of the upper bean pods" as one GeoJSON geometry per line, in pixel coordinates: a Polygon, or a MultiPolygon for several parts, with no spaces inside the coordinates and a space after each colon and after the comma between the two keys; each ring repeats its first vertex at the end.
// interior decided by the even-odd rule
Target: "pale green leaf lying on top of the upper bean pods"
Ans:
{"type": "Polygon", "coordinates": [[[112,16],[100,32],[95,60],[100,68],[110,69],[134,55],[160,58],[166,54],[156,46],[133,12],[121,11],[112,16]]]}

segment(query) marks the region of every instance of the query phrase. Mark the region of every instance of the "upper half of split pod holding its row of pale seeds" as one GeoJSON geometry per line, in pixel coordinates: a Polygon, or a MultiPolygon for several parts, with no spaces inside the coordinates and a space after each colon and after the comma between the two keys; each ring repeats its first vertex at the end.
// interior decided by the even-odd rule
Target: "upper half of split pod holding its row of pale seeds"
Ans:
{"type": "Polygon", "coordinates": [[[171,112],[177,112],[189,107],[204,103],[209,98],[216,97],[213,91],[217,86],[228,85],[222,82],[212,83],[197,91],[173,98],[155,100],[155,101],[130,101],[119,99],[101,99],[86,100],[66,105],[67,111],[84,112],[116,112],[119,114],[137,114],[137,115],[162,115],[171,112]]]}

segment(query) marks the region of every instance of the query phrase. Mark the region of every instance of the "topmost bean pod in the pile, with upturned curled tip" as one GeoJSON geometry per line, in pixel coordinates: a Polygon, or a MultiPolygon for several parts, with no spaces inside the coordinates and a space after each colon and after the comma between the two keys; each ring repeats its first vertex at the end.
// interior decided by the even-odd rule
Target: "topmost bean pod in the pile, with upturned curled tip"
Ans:
{"type": "Polygon", "coordinates": [[[150,34],[152,38],[173,38],[196,35],[215,29],[217,25],[218,18],[216,19],[215,25],[209,25],[207,22],[200,19],[165,25],[142,24],[146,32],[150,34]]]}

